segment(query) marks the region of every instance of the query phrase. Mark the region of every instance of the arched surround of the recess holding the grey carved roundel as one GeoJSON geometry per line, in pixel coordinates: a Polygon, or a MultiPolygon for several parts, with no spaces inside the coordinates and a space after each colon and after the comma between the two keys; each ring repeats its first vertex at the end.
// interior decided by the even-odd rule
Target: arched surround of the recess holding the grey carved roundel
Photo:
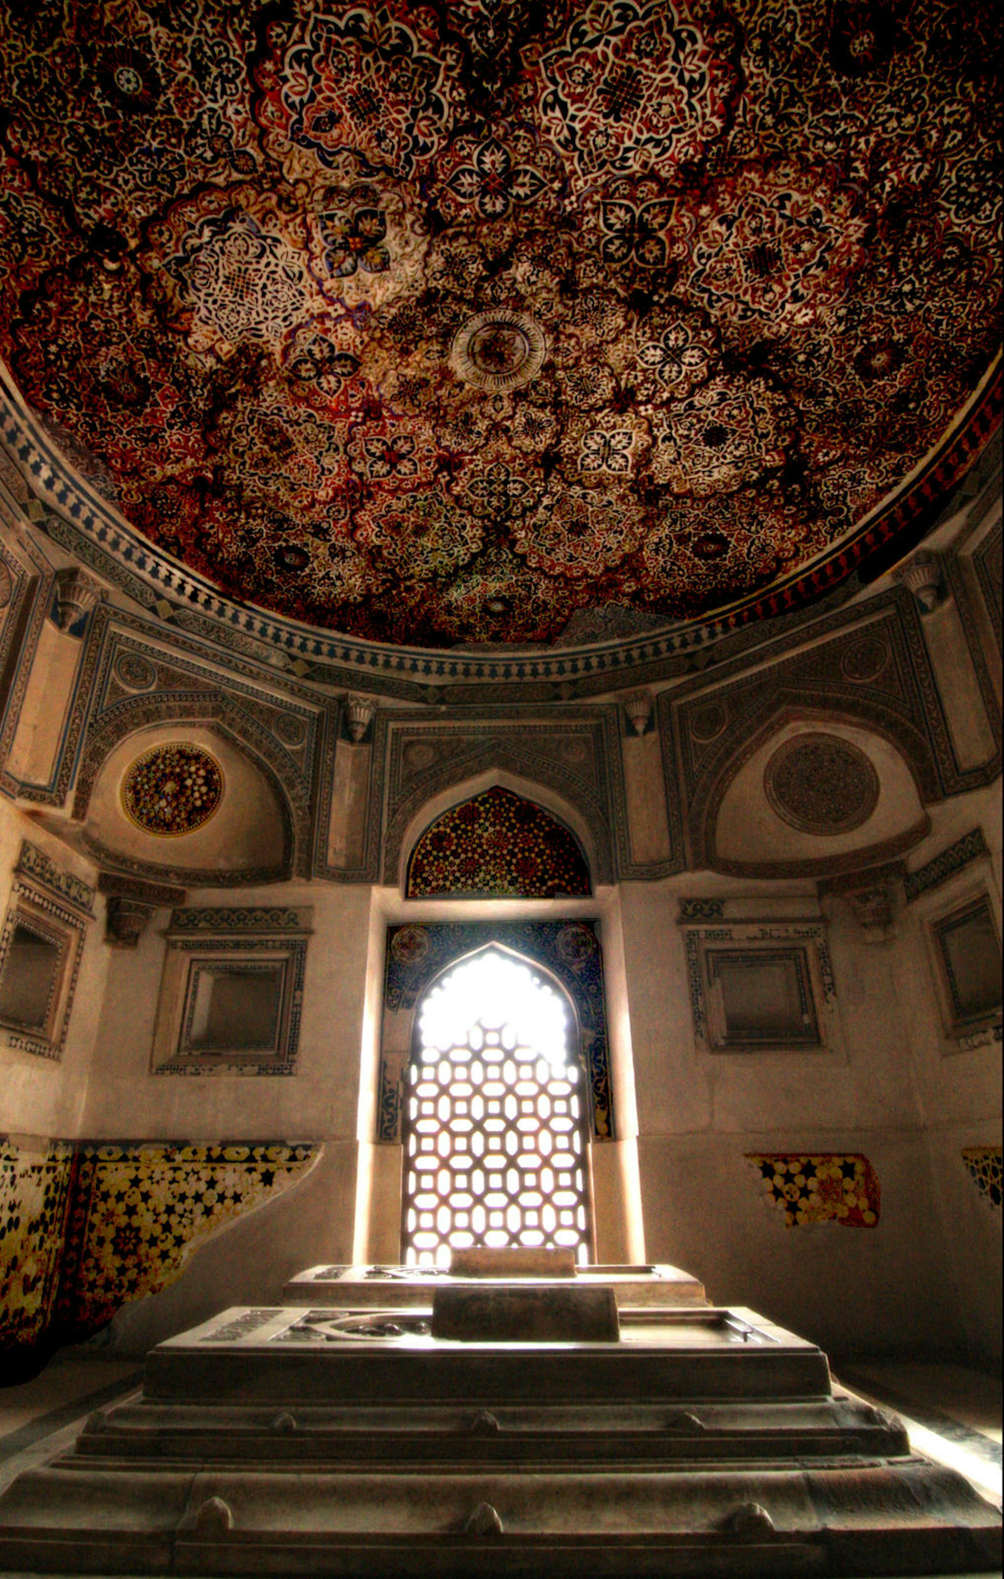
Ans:
{"type": "Polygon", "coordinates": [[[900,840],[882,843],[881,846],[862,845],[854,851],[852,857],[848,856],[838,862],[835,862],[830,854],[821,853],[818,861],[810,859],[799,862],[799,870],[794,870],[791,864],[786,864],[783,873],[780,872],[780,867],[778,872],[774,873],[770,870],[770,862],[767,861],[761,864],[759,870],[750,868],[744,873],[737,873],[736,867],[731,864],[721,864],[715,848],[715,827],[728,790],[745,764],[761,750],[761,747],[775,736],[780,736],[789,725],[818,725],[822,729],[829,728],[837,734],[841,726],[845,726],[878,736],[890,745],[898,758],[906,764],[920,805],[942,799],[938,764],[928,741],[914,728],[912,723],[895,714],[892,709],[884,709],[873,703],[862,703],[857,707],[849,707],[845,706],[843,698],[840,709],[834,709],[826,706],[807,706],[804,698],[796,701],[794,698],[785,695],[772,696],[761,703],[759,707],[744,714],[732,725],[732,728],[721,736],[721,739],[715,744],[714,753],[709,753],[702,764],[701,777],[695,786],[687,818],[691,867],[725,870],[732,875],[747,876],[811,876],[813,873],[822,875],[834,872],[840,865],[854,867],[867,865],[871,861],[890,859],[893,854],[900,854],[903,850],[911,848],[919,838],[923,837],[930,826],[930,820],[927,816],[914,823],[912,827],[905,829],[900,840]]]}

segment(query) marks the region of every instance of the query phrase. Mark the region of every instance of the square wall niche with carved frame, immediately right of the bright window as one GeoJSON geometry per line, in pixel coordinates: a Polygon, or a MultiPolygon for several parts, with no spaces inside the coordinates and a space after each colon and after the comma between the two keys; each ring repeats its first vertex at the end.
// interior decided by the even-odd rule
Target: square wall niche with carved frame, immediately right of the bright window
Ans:
{"type": "Polygon", "coordinates": [[[680,900],[698,1052],[834,1050],[837,993],[822,921],[755,917],[755,903],[680,900]]]}

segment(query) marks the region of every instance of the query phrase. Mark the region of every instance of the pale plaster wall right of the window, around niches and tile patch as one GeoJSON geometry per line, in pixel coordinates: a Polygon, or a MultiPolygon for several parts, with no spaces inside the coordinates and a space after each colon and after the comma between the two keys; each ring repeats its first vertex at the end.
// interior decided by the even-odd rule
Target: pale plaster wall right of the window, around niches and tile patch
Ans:
{"type": "MultiPolygon", "coordinates": [[[[995,853],[983,880],[969,868],[960,881],[993,884],[999,786],[933,808],[911,867],[974,826],[995,853]]],[[[813,894],[807,883],[739,886],[712,873],[622,886],[646,1255],[685,1266],[714,1300],[748,1303],[835,1355],[949,1353],[961,1333],[974,1358],[999,1358],[999,1222],[961,1146],[999,1143],[1001,1050],[949,1047],[912,906],[876,944],[845,900],[826,902],[841,1048],[696,1047],[680,894],[759,894],[774,905],[778,891],[792,908],[813,894]],[[876,1227],[788,1228],[745,1161],[785,1151],[864,1153],[882,1191],[876,1227]]]]}

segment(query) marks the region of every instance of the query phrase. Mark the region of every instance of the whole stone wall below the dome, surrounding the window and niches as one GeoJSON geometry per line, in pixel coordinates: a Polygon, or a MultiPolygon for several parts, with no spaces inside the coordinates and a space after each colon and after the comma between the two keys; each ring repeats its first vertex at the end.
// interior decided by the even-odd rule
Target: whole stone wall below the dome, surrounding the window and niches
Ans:
{"type": "MultiPolygon", "coordinates": [[[[63,1300],[66,1320],[114,1318],[114,1341],[140,1352],[221,1304],[276,1298],[298,1265],[395,1260],[399,1137],[380,1132],[388,928],[504,919],[586,921],[603,951],[603,1257],[679,1263],[712,1298],[838,1355],[999,1358],[999,1192],[995,1205],[966,1162],[1001,1142],[999,1014],[950,1023],[936,944],[941,919],[977,900],[1001,932],[999,510],[942,519],[927,611],[886,576],[742,641],[625,657],[617,690],[600,658],[595,673],[568,658],[560,676],[554,654],[538,660],[546,679],[532,658],[526,673],[499,658],[497,676],[489,654],[469,673],[463,655],[444,658],[450,684],[428,658],[401,658],[396,679],[294,662],[194,609],[137,602],[128,576],[62,630],[69,538],[39,529],[30,489],[0,504],[0,906],[9,914],[27,881],[25,842],[69,884],[47,891],[54,903],[79,897],[74,884],[92,895],[71,903],[81,946],[60,1045],[43,1055],[0,1028],[11,1342],[38,1337],[63,1300]],[[123,813],[123,774],[180,741],[218,755],[219,810],[170,837],[144,832],[123,813]],[[843,780],[799,775],[786,753],[800,747],[804,767],[845,763],[843,780]],[[404,897],[423,829],[493,786],[571,829],[592,894],[404,897]],[[129,927],[115,921],[123,900],[129,927]],[[308,916],[287,1058],[254,1075],[197,1058],[155,1067],[178,906],[215,916],[207,944],[240,946],[251,966],[275,957],[276,932],[242,932],[237,911],[308,916]],[[695,987],[701,949],[774,943],[815,962],[818,1045],[715,1048],[720,1004],[695,987]],[[259,1172],[254,1187],[230,1183],[224,1210],[226,1148],[254,1173],[279,1145],[308,1148],[279,1168],[295,1189],[276,1194],[279,1175],[264,1184],[259,1172]],[[750,1162],[802,1156],[829,1159],[805,1186],[781,1167],[775,1187],[750,1162]],[[878,1211],[848,1206],[865,1176],[848,1159],[867,1164],[878,1211]],[[118,1208],[90,1210],[93,1180],[123,1167],[134,1175],[118,1208]],[[804,1187],[815,1203],[799,1214],[804,1187]],[[65,1255],[66,1211],[104,1258],[99,1276],[65,1277],[63,1295],[57,1262],[87,1260],[79,1244],[65,1255]]],[[[391,1033],[401,1063],[410,1018],[391,1033]]]]}

